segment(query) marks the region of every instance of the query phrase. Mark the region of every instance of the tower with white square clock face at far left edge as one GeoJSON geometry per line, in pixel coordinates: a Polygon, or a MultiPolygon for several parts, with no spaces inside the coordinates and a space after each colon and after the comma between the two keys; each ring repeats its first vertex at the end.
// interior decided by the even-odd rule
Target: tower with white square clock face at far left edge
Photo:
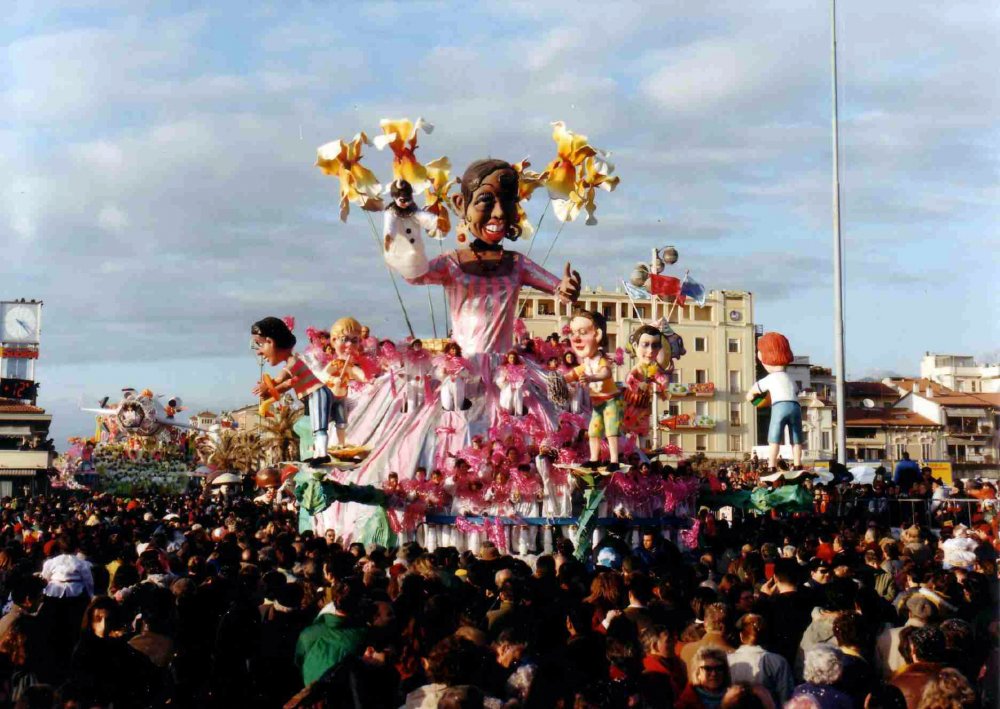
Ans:
{"type": "Polygon", "coordinates": [[[41,335],[42,301],[0,302],[0,398],[38,398],[35,362],[41,335]]]}

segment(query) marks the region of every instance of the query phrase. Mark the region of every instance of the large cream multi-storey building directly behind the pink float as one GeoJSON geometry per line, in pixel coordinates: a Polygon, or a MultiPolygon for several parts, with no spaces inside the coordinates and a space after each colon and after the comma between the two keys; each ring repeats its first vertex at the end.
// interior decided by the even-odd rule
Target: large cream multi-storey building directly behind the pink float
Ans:
{"type": "MultiPolygon", "coordinates": [[[[578,306],[600,312],[608,321],[608,350],[625,347],[629,334],[643,323],[668,318],[684,339],[687,353],[675,363],[669,397],[659,400],[657,445],[679,445],[687,455],[742,457],[757,438],[757,417],[743,400],[755,381],[753,295],[747,291],[713,290],[703,306],[683,306],[650,300],[631,301],[622,290],[584,288],[578,306]]],[[[521,292],[520,312],[532,336],[561,332],[570,310],[555,298],[531,289],[521,292]]],[[[617,368],[623,381],[634,360],[626,356],[617,368]]],[[[651,441],[645,441],[650,443],[651,441]]]]}

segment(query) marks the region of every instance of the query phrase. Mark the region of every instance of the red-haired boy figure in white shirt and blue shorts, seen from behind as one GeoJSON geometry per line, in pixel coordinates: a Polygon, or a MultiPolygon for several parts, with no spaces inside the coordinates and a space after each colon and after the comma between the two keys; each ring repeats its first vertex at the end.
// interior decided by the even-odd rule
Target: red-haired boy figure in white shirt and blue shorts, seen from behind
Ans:
{"type": "Polygon", "coordinates": [[[771,470],[778,467],[778,448],[784,438],[785,428],[792,442],[792,462],[798,470],[802,467],[802,408],[799,406],[795,382],[785,372],[792,363],[792,348],[784,335],[765,332],[757,341],[757,359],[768,374],[750,387],[747,401],[764,394],[771,397],[771,424],[767,429],[768,463],[771,470]]]}

